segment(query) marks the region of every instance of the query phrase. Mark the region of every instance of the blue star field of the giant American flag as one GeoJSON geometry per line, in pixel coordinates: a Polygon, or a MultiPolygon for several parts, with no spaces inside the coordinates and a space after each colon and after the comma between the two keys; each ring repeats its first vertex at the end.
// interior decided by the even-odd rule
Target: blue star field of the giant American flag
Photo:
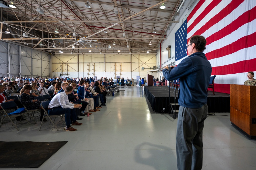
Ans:
{"type": "Polygon", "coordinates": [[[187,19],[175,33],[175,59],[176,61],[187,56],[187,19]]]}

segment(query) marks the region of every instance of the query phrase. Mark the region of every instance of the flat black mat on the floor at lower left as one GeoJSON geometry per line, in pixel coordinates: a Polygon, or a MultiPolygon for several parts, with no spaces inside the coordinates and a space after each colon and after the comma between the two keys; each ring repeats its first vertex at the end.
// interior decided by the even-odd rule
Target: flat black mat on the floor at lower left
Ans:
{"type": "Polygon", "coordinates": [[[38,168],[66,143],[0,142],[0,168],[38,168]]]}

